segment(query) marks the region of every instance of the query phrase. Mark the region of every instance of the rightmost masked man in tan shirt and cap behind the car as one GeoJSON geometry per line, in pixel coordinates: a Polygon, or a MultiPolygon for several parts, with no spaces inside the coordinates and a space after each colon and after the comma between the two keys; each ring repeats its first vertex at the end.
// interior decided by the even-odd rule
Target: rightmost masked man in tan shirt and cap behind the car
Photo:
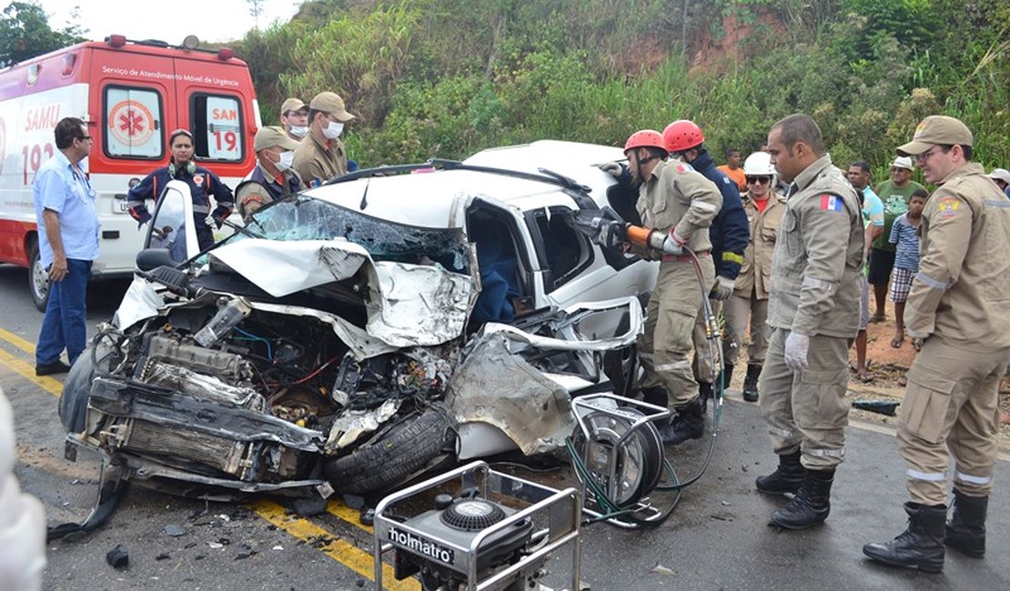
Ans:
{"type": "Polygon", "coordinates": [[[336,93],[322,92],[309,103],[309,134],[295,150],[293,167],[309,187],[319,187],[347,172],[347,152],[340,141],[343,126],[355,116],[336,93]]]}

